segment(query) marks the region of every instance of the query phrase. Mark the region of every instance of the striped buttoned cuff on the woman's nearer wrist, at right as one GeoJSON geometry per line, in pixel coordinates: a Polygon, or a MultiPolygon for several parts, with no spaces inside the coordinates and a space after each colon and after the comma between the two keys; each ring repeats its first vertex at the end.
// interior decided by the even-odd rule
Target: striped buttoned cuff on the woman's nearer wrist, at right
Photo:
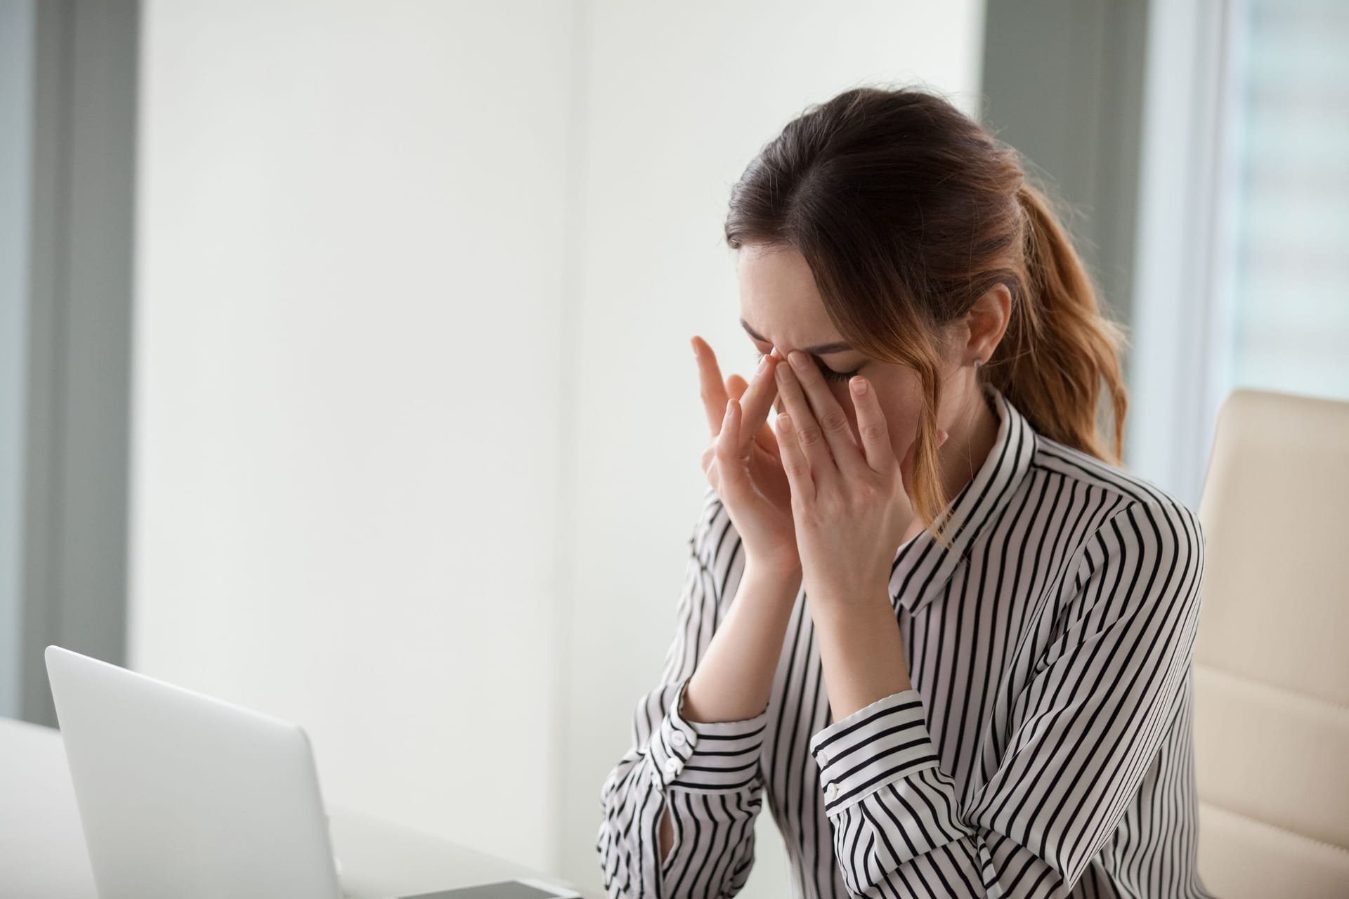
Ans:
{"type": "Polygon", "coordinates": [[[830,724],[809,741],[826,814],[838,814],[888,783],[938,767],[917,690],[901,690],[830,724]]]}

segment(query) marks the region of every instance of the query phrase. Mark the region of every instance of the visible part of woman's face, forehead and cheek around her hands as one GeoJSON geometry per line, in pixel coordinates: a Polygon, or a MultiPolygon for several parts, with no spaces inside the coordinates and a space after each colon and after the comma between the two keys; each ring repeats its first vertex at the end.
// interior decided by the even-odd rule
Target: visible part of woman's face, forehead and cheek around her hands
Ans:
{"type": "MultiPolygon", "coordinates": [[[[847,415],[853,439],[861,445],[857,430],[857,410],[849,395],[847,379],[862,375],[876,385],[876,396],[889,423],[890,446],[896,458],[904,458],[917,434],[919,410],[923,392],[917,373],[905,365],[869,359],[855,349],[828,346],[843,344],[834,328],[824,302],[815,287],[815,278],[805,257],[795,247],[765,249],[746,245],[739,249],[738,276],[741,292],[741,323],[761,353],[777,346],[785,357],[793,349],[807,352],[824,375],[824,380],[847,415]],[[819,348],[819,349],[813,349],[819,348]],[[830,372],[844,377],[836,379],[830,372]]],[[[943,369],[943,380],[955,372],[955,365],[943,369]]],[[[946,395],[943,394],[943,398],[946,395]]],[[[943,407],[948,402],[943,399],[943,407]]],[[[781,396],[773,403],[782,408],[781,396]]],[[[942,415],[938,415],[939,423],[942,415]]]]}

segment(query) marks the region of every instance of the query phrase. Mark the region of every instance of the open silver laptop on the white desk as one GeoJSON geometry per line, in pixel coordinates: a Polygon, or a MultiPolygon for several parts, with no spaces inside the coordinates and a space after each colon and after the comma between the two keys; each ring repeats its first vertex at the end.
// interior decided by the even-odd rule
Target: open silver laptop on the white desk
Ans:
{"type": "MultiPolygon", "coordinates": [[[[309,737],[127,669],[46,650],[101,899],[341,899],[309,737]]],[[[510,880],[406,899],[580,895],[510,880]]]]}

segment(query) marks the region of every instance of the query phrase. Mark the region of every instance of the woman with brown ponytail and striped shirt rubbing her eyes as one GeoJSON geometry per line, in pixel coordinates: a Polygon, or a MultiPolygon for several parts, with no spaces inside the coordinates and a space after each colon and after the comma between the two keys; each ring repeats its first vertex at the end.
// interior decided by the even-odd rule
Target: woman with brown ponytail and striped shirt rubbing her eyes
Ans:
{"type": "Polygon", "coordinates": [[[726,239],[762,360],[723,383],[693,340],[710,488],[602,788],[610,895],[734,895],[766,795],[795,896],[1207,896],[1202,531],[1118,466],[1120,330],[1018,154],[849,90],[726,239]]]}

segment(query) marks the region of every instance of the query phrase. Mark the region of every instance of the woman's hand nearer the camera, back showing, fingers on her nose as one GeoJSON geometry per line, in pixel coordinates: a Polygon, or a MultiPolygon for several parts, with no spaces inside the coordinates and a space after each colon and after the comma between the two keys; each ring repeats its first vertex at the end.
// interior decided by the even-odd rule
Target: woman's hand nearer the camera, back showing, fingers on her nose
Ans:
{"type": "MultiPolygon", "coordinates": [[[[890,565],[913,523],[911,442],[902,461],[890,446],[876,390],[853,377],[859,446],[843,407],[808,354],[781,365],[777,385],[786,412],[777,418],[782,469],[792,489],[792,518],[805,596],[813,602],[850,602],[888,594],[890,565]]],[[[938,446],[947,433],[938,433],[938,446]]]]}

